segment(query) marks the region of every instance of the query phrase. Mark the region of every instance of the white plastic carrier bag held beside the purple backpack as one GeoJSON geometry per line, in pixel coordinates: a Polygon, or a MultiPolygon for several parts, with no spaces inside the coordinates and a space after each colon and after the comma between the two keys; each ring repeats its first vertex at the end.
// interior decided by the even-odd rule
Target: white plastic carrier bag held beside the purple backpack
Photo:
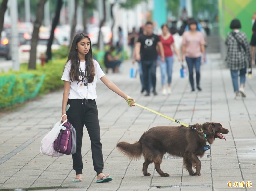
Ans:
{"type": "MultiPolygon", "coordinates": [[[[66,114],[64,114],[66,115],[66,114]]],[[[64,116],[62,115],[62,117],[64,116]]],[[[61,123],[61,119],[54,125],[54,127],[52,128],[52,130],[47,133],[44,138],[41,141],[41,146],[40,146],[40,153],[44,154],[44,155],[48,155],[48,156],[53,156],[53,157],[58,157],[58,156],[62,156],[64,154],[62,153],[58,153],[57,151],[54,150],[53,148],[53,144],[55,139],[57,139],[59,133],[60,133],[60,129],[65,130],[66,127],[63,127],[62,125],[64,123],[66,123],[68,120],[66,119],[63,123],[61,123]]]]}

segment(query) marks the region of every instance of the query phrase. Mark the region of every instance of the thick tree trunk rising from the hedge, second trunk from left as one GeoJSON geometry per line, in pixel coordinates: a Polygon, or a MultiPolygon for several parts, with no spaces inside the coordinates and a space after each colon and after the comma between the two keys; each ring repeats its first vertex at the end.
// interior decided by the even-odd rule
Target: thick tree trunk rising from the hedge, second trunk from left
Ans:
{"type": "Polygon", "coordinates": [[[40,0],[37,4],[36,20],[34,22],[34,29],[31,39],[30,59],[28,69],[36,69],[36,47],[38,43],[39,28],[42,24],[44,16],[44,4],[47,0],[40,0]]]}

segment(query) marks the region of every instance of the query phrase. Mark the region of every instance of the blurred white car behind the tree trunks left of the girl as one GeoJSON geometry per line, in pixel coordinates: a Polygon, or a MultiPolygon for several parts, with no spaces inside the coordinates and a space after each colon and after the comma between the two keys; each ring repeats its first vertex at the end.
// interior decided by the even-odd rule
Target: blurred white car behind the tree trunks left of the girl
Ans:
{"type": "MultiPolygon", "coordinates": [[[[41,55],[46,53],[47,50],[47,43],[48,43],[47,38],[39,38],[38,39],[38,44],[36,47],[36,59],[40,59],[41,55]]],[[[60,48],[60,44],[56,39],[53,40],[51,49],[52,50],[57,50],[60,48]]],[[[29,62],[30,59],[30,49],[31,49],[31,40],[26,40],[25,44],[21,45],[19,47],[19,62],[24,63],[24,62],[29,62]]]]}

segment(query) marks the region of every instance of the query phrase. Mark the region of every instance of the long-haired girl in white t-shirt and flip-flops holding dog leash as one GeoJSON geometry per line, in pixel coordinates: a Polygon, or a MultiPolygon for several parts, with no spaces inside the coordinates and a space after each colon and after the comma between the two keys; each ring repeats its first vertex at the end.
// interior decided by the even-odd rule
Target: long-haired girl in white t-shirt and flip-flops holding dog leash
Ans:
{"type": "MultiPolygon", "coordinates": [[[[72,155],[73,169],[76,178],[73,182],[82,181],[83,161],[81,154],[83,127],[87,128],[91,140],[92,160],[94,170],[97,173],[96,182],[109,182],[112,180],[109,174],[103,174],[102,144],[100,142],[100,125],[98,109],[95,102],[96,82],[100,79],[110,90],[127,100],[127,95],[122,92],[103,73],[99,63],[92,58],[90,38],[80,33],[74,37],[68,55],[68,60],[61,78],[64,81],[62,99],[62,122],[67,118],[76,129],[76,153],[72,155]],[[66,111],[67,105],[70,108],[66,111]]],[[[133,98],[130,98],[135,103],[133,98]]],[[[131,104],[133,106],[134,104],[131,104]]]]}

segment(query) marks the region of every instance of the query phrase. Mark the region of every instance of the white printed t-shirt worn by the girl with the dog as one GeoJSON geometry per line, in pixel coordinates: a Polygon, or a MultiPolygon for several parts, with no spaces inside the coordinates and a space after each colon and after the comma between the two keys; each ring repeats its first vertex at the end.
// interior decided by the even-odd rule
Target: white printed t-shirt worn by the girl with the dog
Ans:
{"type": "MultiPolygon", "coordinates": [[[[93,63],[95,66],[95,77],[92,83],[88,83],[88,81],[83,80],[83,76],[79,76],[79,81],[71,81],[69,79],[69,72],[71,69],[71,61],[69,60],[65,66],[63,75],[61,80],[71,82],[70,84],[70,91],[68,98],[69,99],[96,99],[96,83],[97,80],[101,77],[103,77],[105,74],[100,68],[99,63],[93,59],[93,63]],[[88,93],[87,93],[87,85],[88,85],[88,93]]],[[[85,72],[85,61],[80,62],[80,67],[82,72],[85,72]]],[[[80,71],[80,70],[79,70],[80,71]]]]}

